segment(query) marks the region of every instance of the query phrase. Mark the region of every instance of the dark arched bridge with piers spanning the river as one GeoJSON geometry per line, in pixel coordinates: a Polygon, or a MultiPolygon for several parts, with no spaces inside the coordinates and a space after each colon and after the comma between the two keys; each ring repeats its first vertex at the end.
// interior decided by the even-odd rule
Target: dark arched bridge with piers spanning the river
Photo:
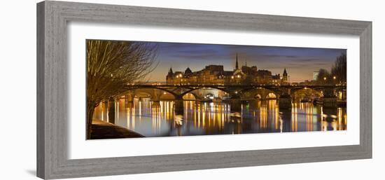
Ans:
{"type": "MultiPolygon", "coordinates": [[[[335,91],[346,92],[346,85],[127,85],[125,89],[117,97],[124,96],[127,103],[133,102],[134,97],[150,98],[155,104],[169,99],[175,101],[175,112],[183,114],[183,99],[186,99],[186,95],[200,100],[204,98],[204,93],[215,93],[211,90],[222,92],[225,97],[223,100],[235,110],[240,108],[242,101],[253,99],[278,99],[280,109],[290,109],[295,97],[323,97],[323,106],[334,107],[337,104],[335,91]]],[[[111,117],[115,111],[115,100],[111,97],[104,102],[108,103],[111,117]]]]}

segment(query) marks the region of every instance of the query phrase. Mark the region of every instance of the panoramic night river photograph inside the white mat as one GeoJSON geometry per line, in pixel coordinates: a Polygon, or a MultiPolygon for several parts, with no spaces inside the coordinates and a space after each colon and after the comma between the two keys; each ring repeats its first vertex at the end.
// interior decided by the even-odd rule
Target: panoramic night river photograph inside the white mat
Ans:
{"type": "Polygon", "coordinates": [[[346,49],[86,40],[86,137],[346,130],[346,49]]]}

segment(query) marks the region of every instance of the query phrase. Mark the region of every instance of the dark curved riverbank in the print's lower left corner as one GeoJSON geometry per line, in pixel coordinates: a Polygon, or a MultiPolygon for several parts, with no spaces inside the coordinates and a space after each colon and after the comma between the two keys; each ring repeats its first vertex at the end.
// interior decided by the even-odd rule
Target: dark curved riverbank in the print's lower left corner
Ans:
{"type": "Polygon", "coordinates": [[[132,138],[144,137],[143,135],[127,130],[125,127],[120,127],[112,123],[107,123],[102,120],[92,120],[91,139],[117,139],[117,138],[132,138]]]}

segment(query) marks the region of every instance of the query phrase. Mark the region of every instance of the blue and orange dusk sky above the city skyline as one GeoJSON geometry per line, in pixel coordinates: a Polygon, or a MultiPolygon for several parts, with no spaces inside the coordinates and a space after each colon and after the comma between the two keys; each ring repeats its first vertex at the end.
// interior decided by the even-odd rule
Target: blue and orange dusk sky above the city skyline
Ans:
{"type": "Polygon", "coordinates": [[[345,49],[293,48],[274,46],[239,46],[195,43],[158,43],[158,67],[147,76],[148,81],[166,81],[169,68],[175,71],[200,71],[209,64],[223,65],[225,71],[235,68],[238,53],[239,67],[257,66],[258,69],[282,74],[286,68],[290,82],[311,80],[314,71],[330,71],[337,56],[345,49]]]}

